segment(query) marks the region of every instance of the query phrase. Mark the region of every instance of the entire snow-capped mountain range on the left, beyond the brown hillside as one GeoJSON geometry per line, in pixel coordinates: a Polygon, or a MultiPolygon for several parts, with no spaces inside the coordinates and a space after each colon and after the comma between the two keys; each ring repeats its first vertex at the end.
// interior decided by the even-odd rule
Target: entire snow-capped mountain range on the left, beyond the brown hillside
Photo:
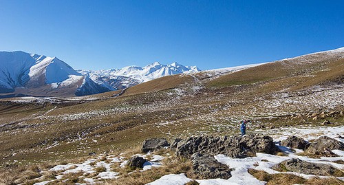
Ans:
{"type": "Polygon", "coordinates": [[[178,63],[76,71],[56,57],[25,52],[0,52],[0,64],[1,97],[85,96],[124,89],[171,74],[200,71],[195,66],[178,63]]]}

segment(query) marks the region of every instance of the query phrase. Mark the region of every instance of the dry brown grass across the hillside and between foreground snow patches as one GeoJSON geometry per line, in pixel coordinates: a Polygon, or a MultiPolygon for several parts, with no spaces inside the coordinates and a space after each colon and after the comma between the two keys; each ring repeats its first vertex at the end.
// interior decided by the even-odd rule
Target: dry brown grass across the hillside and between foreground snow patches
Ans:
{"type": "MultiPolygon", "coordinates": [[[[219,78],[206,74],[168,76],[131,87],[116,98],[111,97],[114,92],[108,92],[90,96],[96,100],[80,98],[68,103],[48,102],[45,106],[39,101],[1,100],[0,183],[32,184],[37,177],[50,180],[54,172],[41,171],[76,160],[84,162],[93,155],[103,156],[90,163],[93,167],[100,161],[109,163],[104,153],[123,153],[121,156],[128,159],[140,153],[140,144],[147,138],[172,141],[200,134],[236,135],[237,123],[243,118],[253,122],[248,133],[274,134],[299,126],[343,126],[343,100],[338,96],[344,88],[343,58],[319,58],[314,56],[312,60],[316,62],[304,65],[290,62],[261,65],[219,78]],[[290,66],[297,68],[289,69],[290,66]],[[321,125],[324,120],[330,124],[321,125]]],[[[114,163],[111,170],[120,173],[120,178],[108,183],[146,184],[169,173],[186,173],[193,178],[188,159],[175,156],[168,149],[154,154],[166,157],[162,167],[138,172],[114,163]]],[[[336,163],[343,164],[343,160],[336,163]]],[[[106,168],[98,166],[96,171],[84,175],[96,177],[106,168]]],[[[268,184],[337,182],[305,180],[288,173],[270,175],[252,170],[250,173],[268,184]]],[[[78,175],[63,178],[68,178],[66,184],[81,183],[78,175]]]]}

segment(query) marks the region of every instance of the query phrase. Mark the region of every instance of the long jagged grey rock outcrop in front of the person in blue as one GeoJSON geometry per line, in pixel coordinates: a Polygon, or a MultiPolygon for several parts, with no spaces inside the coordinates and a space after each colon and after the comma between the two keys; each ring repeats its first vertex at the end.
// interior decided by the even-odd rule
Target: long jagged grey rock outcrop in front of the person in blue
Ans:
{"type": "Polygon", "coordinates": [[[255,155],[257,152],[273,154],[278,150],[269,136],[198,136],[178,142],[176,153],[184,157],[191,157],[193,153],[202,152],[209,155],[224,154],[229,157],[241,158],[255,155]]]}

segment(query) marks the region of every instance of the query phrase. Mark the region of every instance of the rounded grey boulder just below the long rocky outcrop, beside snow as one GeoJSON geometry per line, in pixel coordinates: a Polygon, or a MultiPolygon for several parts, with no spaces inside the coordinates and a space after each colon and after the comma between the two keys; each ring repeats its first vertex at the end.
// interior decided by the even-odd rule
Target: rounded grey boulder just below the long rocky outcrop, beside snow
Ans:
{"type": "Polygon", "coordinates": [[[229,179],[230,168],[227,165],[217,162],[213,155],[194,153],[191,155],[193,173],[200,179],[229,179]]]}

